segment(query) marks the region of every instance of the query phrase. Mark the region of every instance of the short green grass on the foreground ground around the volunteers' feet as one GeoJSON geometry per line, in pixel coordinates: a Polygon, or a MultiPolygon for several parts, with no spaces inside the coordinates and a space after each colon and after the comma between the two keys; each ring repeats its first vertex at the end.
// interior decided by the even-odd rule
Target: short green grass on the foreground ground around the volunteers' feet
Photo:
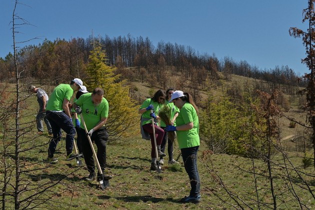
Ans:
{"type": "MultiPolygon", "coordinates": [[[[37,138],[38,141],[47,141],[48,136],[42,135],[37,138]]],[[[88,175],[85,167],[79,168],[75,159],[65,161],[64,140],[59,142],[56,156],[59,161],[42,171],[29,172],[25,174],[28,180],[33,182],[45,182],[63,178],[63,180],[52,188],[51,194],[55,201],[68,203],[64,208],[70,209],[182,209],[182,208],[204,208],[224,209],[231,208],[226,203],[218,199],[228,199],[228,196],[222,186],[218,183],[214,171],[221,177],[228,190],[237,193],[245,202],[250,202],[246,196],[254,198],[253,176],[251,171],[250,159],[237,155],[227,154],[208,154],[198,160],[198,169],[201,179],[202,202],[199,204],[179,203],[178,199],[189,194],[190,185],[188,176],[184,171],[182,160],[180,164],[162,166],[162,173],[150,171],[150,144],[149,141],[140,139],[139,136],[125,139],[119,143],[109,143],[107,145],[107,167],[106,172],[113,178],[110,180],[110,187],[102,191],[98,182],[89,183],[84,180],[88,175]],[[213,163],[213,170],[210,162],[213,163]],[[209,168],[209,169],[208,169],[209,168]],[[66,176],[65,174],[74,171],[66,176]],[[216,195],[215,195],[216,194],[216,195]]],[[[174,156],[177,156],[178,149],[175,145],[174,156]]],[[[202,144],[199,157],[201,157],[205,146],[202,144]]],[[[37,162],[44,160],[47,156],[47,146],[36,148],[33,151],[22,155],[25,162],[37,162]]],[[[295,155],[295,153],[290,154],[295,155]]],[[[279,159],[280,154],[276,154],[274,159],[279,159]]],[[[165,158],[167,160],[167,157],[165,158]]],[[[299,164],[299,158],[292,159],[299,164]]],[[[166,162],[166,161],[165,161],[166,162]]],[[[280,162],[280,161],[279,161],[280,162]]],[[[255,160],[256,172],[267,174],[265,164],[260,160],[255,160]]],[[[40,162],[34,167],[48,166],[47,163],[40,162]]],[[[281,171],[274,167],[274,171],[281,171]]],[[[29,168],[30,169],[30,168],[29,168]]],[[[302,169],[304,172],[313,173],[312,167],[302,169]]],[[[275,174],[274,182],[278,190],[286,191],[284,185],[285,178],[275,174]]],[[[265,178],[258,176],[258,188],[262,201],[270,202],[271,194],[268,190],[269,182],[265,178]],[[265,195],[263,195],[265,193],[265,195]],[[263,197],[263,198],[262,198],[263,197]]],[[[300,181],[296,176],[296,181],[300,181]]],[[[314,185],[314,179],[309,178],[308,183],[314,185]]],[[[314,186],[312,186],[314,190],[314,186]]],[[[301,200],[311,205],[313,200],[305,190],[295,188],[297,193],[301,194],[301,200]],[[303,195],[303,196],[302,196],[303,195]],[[307,201],[309,199],[310,201],[307,201]]],[[[278,194],[280,191],[276,191],[278,194]]],[[[49,193],[48,193],[49,194],[49,193]]],[[[287,193],[286,193],[287,194],[287,193]]],[[[282,195],[284,200],[289,200],[288,195],[282,195]]],[[[278,199],[280,199],[279,197],[278,199]]],[[[228,199],[232,202],[231,199],[228,199]]],[[[280,202],[280,200],[278,200],[280,202]]],[[[285,209],[297,208],[298,204],[294,201],[287,201],[280,205],[285,209]]],[[[49,206],[47,206],[49,207],[49,206]]]]}

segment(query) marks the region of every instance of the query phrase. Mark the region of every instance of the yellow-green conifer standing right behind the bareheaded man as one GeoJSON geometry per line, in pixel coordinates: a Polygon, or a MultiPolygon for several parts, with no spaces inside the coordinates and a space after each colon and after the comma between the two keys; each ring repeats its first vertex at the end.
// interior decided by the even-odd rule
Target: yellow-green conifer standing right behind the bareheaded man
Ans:
{"type": "Polygon", "coordinates": [[[135,125],[138,122],[137,107],[135,101],[129,96],[129,86],[125,80],[120,80],[120,74],[114,74],[115,67],[106,64],[107,58],[99,44],[95,44],[89,55],[89,63],[86,66],[88,79],[85,83],[87,89],[101,87],[104,97],[109,104],[108,119],[105,124],[109,139],[114,140],[120,136],[134,134],[135,125]]]}

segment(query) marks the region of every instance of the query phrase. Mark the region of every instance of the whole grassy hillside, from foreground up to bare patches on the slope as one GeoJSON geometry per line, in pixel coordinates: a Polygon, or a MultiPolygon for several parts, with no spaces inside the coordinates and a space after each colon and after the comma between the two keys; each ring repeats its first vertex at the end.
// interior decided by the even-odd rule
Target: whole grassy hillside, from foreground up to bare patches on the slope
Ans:
{"type": "MultiPolygon", "coordinates": [[[[248,78],[233,76],[231,80],[222,82],[226,84],[237,82],[240,84],[245,83],[245,79],[248,78]]],[[[137,95],[138,99],[149,96],[149,85],[138,82],[134,82],[132,85],[137,89],[134,94],[137,95]]],[[[213,90],[218,94],[220,93],[219,88],[213,90]]],[[[205,92],[201,90],[201,97],[205,97],[205,95],[205,92]]],[[[34,119],[37,111],[37,101],[35,97],[30,97],[27,102],[30,105],[24,108],[23,113],[27,113],[27,117],[34,119]]],[[[299,109],[297,104],[292,104],[292,108],[287,112],[287,115],[300,121],[305,120],[305,113],[299,109]]],[[[300,125],[296,125],[295,128],[288,128],[289,121],[283,117],[280,119],[280,123],[283,138],[295,135],[299,130],[302,130],[300,125]]],[[[90,183],[84,180],[84,177],[88,175],[85,166],[78,167],[75,160],[65,161],[64,139],[57,146],[56,157],[59,159],[58,163],[53,165],[44,163],[47,157],[47,143],[50,136],[47,134],[38,136],[35,123],[31,126],[32,131],[25,134],[23,139],[34,139],[37,143],[45,145],[22,153],[21,159],[24,162],[24,168],[46,168],[40,171],[26,172],[23,178],[35,184],[60,180],[44,195],[44,197],[51,196],[52,202],[46,202],[44,205],[48,209],[231,209],[233,205],[236,206],[236,203],[228,194],[232,194],[233,198],[238,200],[244,208],[247,208],[244,203],[257,207],[254,202],[256,196],[255,181],[260,203],[271,203],[272,201],[269,181],[263,177],[268,175],[266,162],[238,155],[213,154],[201,141],[198,153],[198,169],[202,201],[199,204],[180,203],[178,200],[184,195],[188,195],[190,190],[181,158],[179,158],[179,165],[164,164],[162,166],[163,171],[160,174],[150,171],[150,142],[141,139],[139,135],[108,143],[106,171],[113,178],[110,180],[110,187],[102,191],[96,181],[90,183]],[[255,171],[261,174],[257,175],[256,179],[252,174],[252,163],[254,163],[255,171]],[[243,202],[237,199],[237,196],[243,202]]],[[[290,139],[286,140],[291,142],[290,139]]],[[[24,144],[23,147],[27,145],[24,144]]],[[[301,157],[304,153],[294,151],[294,146],[291,150],[287,151],[285,155],[291,157],[292,163],[304,173],[302,177],[304,181],[310,185],[311,190],[315,190],[315,179],[307,175],[314,174],[314,169],[312,167],[302,168],[301,157]]],[[[174,157],[178,155],[178,145],[175,144],[174,157]]],[[[272,156],[274,161],[272,163],[274,169],[272,177],[276,186],[275,193],[278,208],[296,209],[299,208],[299,204],[288,190],[290,188],[288,179],[281,167],[284,164],[282,157],[283,154],[280,152],[275,152],[272,156]]],[[[168,160],[167,156],[165,159],[168,160]]],[[[0,164],[0,179],[2,180],[3,161],[0,164]]],[[[12,180],[14,180],[13,174],[12,180]]],[[[294,172],[291,172],[291,175],[295,177],[294,181],[296,183],[300,183],[300,177],[294,172]]],[[[12,188],[10,187],[10,189],[12,188]]],[[[307,189],[294,185],[294,190],[301,202],[308,208],[315,206],[315,200],[307,192],[307,189]]],[[[22,195],[22,197],[25,196],[27,196],[27,193],[22,195]]],[[[8,203],[7,209],[13,209],[12,200],[8,203]]],[[[267,208],[267,205],[260,207],[264,209],[267,208]]],[[[272,207],[272,205],[269,205],[269,207],[272,207]]]]}

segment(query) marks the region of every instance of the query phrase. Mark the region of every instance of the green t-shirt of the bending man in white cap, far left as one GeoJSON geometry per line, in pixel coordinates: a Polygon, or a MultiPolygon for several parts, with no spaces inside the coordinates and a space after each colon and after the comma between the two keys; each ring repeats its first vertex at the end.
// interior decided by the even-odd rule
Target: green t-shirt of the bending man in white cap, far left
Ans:
{"type": "Polygon", "coordinates": [[[70,84],[59,84],[56,86],[47,102],[46,110],[49,111],[62,111],[63,99],[66,98],[70,101],[73,94],[73,89],[70,84]]]}

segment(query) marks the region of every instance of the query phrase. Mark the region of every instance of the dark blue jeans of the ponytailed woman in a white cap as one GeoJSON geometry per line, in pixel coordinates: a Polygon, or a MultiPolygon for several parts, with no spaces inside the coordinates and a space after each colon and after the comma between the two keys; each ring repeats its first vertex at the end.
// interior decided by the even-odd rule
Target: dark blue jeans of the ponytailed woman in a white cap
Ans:
{"type": "Polygon", "coordinates": [[[185,170],[188,173],[190,180],[190,196],[197,196],[200,194],[200,178],[197,169],[198,148],[199,146],[193,146],[180,149],[185,170]]]}

